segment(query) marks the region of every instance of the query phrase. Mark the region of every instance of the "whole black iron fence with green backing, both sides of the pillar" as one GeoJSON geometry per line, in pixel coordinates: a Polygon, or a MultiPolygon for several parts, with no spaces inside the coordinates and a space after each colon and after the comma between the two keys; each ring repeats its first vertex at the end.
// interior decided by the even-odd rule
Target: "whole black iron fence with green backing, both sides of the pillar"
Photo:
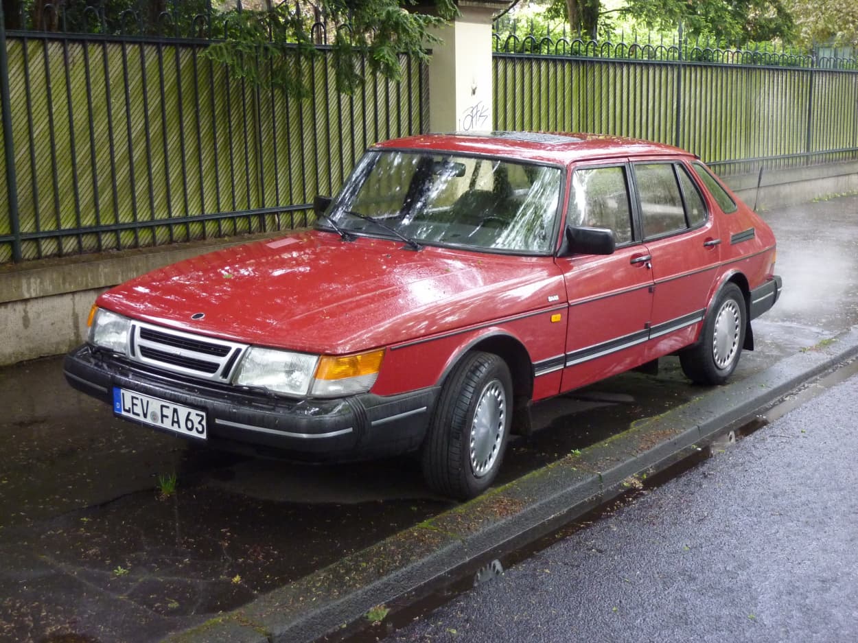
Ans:
{"type": "MultiPolygon", "coordinates": [[[[428,129],[426,69],[407,57],[402,82],[368,75],[344,96],[318,45],[295,99],[201,55],[228,29],[208,0],[148,17],[40,6],[39,29],[0,27],[0,264],[307,225],[368,144],[428,129]]],[[[496,34],[492,126],[668,142],[722,175],[858,159],[858,61],[496,34]]]]}

